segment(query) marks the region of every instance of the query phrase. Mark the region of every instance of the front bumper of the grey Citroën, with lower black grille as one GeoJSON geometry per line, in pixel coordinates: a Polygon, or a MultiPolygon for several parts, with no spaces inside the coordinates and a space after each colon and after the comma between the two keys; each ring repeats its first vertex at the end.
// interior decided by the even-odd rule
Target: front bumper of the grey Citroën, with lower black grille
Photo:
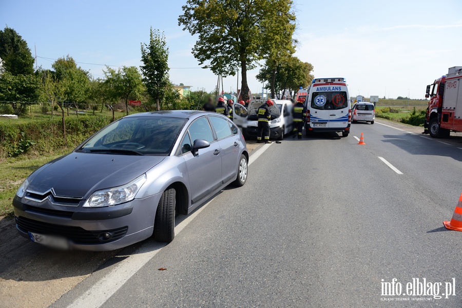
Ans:
{"type": "Polygon", "coordinates": [[[142,241],[152,235],[161,194],[119,205],[83,208],[52,208],[48,204],[23,203],[13,199],[16,229],[25,238],[29,232],[65,238],[70,249],[110,251],[142,241]],[[109,233],[108,239],[104,234],[109,233]]]}

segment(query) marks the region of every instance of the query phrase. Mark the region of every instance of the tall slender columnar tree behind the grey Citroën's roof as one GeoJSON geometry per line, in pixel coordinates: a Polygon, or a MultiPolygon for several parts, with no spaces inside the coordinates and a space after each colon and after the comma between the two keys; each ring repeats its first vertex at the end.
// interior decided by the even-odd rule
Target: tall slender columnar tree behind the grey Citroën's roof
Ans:
{"type": "Polygon", "coordinates": [[[146,90],[157,103],[157,110],[160,110],[159,101],[165,98],[171,89],[168,76],[168,48],[166,47],[165,36],[159,30],[149,32],[149,45],[141,43],[141,60],[143,61],[141,72],[146,90]]]}

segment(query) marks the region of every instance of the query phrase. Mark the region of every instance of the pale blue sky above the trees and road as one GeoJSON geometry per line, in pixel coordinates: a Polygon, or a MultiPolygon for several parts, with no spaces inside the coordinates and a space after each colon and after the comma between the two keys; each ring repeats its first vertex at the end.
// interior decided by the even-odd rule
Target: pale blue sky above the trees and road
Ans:
{"type": "MultiPolygon", "coordinates": [[[[351,95],[421,99],[426,85],[462,66],[460,0],[294,2],[295,55],[313,64],[317,78],[346,78],[351,95]]],[[[98,78],[103,65],[139,67],[152,26],[165,33],[171,82],[211,91],[217,76],[199,67],[191,54],[196,37],[178,26],[185,3],[0,0],[0,28],[15,29],[32,54],[35,44],[39,66],[69,54],[98,78]]],[[[253,92],[261,91],[258,70],[247,74],[253,92]]],[[[236,87],[236,77],[224,80],[225,90],[236,87]]]]}

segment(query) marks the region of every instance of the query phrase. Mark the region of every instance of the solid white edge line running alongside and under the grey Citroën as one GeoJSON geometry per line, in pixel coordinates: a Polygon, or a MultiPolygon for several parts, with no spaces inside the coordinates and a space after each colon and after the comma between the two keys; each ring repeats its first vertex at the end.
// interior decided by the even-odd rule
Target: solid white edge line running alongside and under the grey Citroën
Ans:
{"type": "MultiPolygon", "coordinates": [[[[248,159],[251,165],[262,153],[271,146],[271,143],[263,145],[248,159]]],[[[214,197],[215,199],[215,197],[214,197]]],[[[194,213],[188,215],[178,225],[175,226],[175,236],[184,229],[201,211],[207,207],[214,199],[198,208],[194,213]]],[[[125,260],[121,261],[111,272],[100,281],[95,283],[87,292],[77,298],[68,308],[98,308],[103,305],[124,283],[139,271],[149,260],[157,255],[164,247],[164,243],[149,241],[142,245],[136,252],[125,260]]]]}

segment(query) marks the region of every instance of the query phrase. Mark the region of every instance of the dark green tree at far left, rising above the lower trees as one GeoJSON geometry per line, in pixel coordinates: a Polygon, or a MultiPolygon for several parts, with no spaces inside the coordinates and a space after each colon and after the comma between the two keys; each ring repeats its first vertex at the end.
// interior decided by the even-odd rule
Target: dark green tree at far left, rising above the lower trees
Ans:
{"type": "Polygon", "coordinates": [[[14,29],[0,30],[0,57],[3,66],[12,75],[28,75],[34,72],[34,58],[23,40],[14,29]]]}

